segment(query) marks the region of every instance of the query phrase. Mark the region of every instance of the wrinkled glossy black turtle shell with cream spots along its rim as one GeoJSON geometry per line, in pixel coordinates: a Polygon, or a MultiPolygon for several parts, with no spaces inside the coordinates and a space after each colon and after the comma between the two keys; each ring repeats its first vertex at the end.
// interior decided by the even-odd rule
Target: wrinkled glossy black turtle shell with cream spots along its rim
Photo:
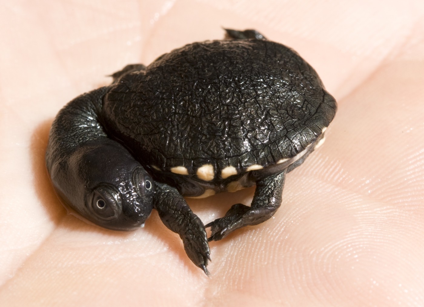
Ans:
{"type": "Polygon", "coordinates": [[[235,39],[186,45],[123,75],[103,120],[145,167],[219,181],[304,152],[335,112],[295,51],[235,39]]]}

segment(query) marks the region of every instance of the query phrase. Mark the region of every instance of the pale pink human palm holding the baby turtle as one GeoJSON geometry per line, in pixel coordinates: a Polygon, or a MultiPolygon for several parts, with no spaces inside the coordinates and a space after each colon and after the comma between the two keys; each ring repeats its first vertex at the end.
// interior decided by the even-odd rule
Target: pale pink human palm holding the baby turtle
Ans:
{"type": "MultiPolygon", "coordinates": [[[[0,3],[0,305],[424,304],[422,1],[264,3],[0,3]],[[338,113],[274,217],[210,244],[208,278],[156,211],[134,232],[67,215],[44,153],[67,101],[221,26],[293,47],[338,113]]],[[[206,224],[253,193],[189,204],[206,224]]]]}

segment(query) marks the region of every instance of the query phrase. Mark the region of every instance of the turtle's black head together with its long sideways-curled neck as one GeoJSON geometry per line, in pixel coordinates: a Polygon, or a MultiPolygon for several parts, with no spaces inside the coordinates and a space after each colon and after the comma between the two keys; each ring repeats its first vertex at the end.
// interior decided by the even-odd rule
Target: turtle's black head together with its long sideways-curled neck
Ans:
{"type": "Polygon", "coordinates": [[[46,165],[53,186],[71,209],[96,225],[131,230],[150,215],[154,184],[100,124],[107,89],[81,95],[59,112],[50,130],[46,165]]]}

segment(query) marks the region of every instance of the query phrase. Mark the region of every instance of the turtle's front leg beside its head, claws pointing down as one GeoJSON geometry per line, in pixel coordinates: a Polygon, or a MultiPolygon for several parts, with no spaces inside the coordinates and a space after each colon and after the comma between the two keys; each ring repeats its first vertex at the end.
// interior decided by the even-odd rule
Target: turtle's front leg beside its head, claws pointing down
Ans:
{"type": "Polygon", "coordinates": [[[153,208],[158,211],[165,226],[179,234],[190,260],[209,275],[206,267],[210,260],[210,251],[205,226],[191,211],[178,190],[167,184],[156,182],[153,208]]]}

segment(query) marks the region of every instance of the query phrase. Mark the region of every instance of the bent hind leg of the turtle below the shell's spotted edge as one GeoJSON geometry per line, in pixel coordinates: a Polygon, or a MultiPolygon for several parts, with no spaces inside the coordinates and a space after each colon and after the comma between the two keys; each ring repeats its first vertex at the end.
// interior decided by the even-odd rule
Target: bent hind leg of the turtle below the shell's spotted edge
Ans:
{"type": "Polygon", "coordinates": [[[223,218],[207,224],[211,227],[209,241],[218,241],[244,226],[257,225],[271,218],[281,205],[286,170],[256,182],[251,207],[233,205],[223,218]]]}

